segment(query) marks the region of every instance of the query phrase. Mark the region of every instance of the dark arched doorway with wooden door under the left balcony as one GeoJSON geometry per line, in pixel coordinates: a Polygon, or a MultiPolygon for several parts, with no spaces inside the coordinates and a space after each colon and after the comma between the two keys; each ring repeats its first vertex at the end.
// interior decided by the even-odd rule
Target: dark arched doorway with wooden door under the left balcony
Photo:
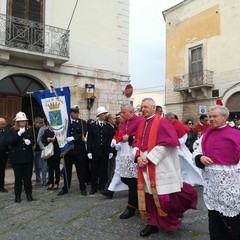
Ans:
{"type": "MultiPolygon", "coordinates": [[[[11,75],[0,80],[0,113],[6,118],[9,125],[17,112],[26,113],[29,123],[32,124],[30,94],[28,92],[45,89],[37,80],[25,75],[11,75]]],[[[42,108],[32,96],[34,117],[44,117],[42,108]]]]}

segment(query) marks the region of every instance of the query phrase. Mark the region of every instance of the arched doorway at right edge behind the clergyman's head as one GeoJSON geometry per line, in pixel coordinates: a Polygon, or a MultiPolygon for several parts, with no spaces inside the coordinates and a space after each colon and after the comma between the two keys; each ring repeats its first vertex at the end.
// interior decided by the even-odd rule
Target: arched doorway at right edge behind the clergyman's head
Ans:
{"type": "Polygon", "coordinates": [[[229,120],[232,121],[235,117],[240,117],[240,91],[232,94],[227,100],[226,107],[230,111],[229,120]]]}

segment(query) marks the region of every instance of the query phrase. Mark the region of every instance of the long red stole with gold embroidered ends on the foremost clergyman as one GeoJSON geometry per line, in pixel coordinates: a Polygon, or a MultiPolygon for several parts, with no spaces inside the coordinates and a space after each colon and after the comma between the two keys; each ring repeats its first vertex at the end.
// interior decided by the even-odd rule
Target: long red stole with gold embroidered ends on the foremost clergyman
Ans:
{"type": "MultiPolygon", "coordinates": [[[[153,119],[153,123],[150,130],[150,135],[148,138],[148,152],[150,152],[156,145],[157,141],[157,132],[158,126],[160,124],[161,116],[156,114],[155,118],[153,119]]],[[[138,128],[137,134],[137,147],[140,149],[142,136],[144,132],[146,122],[141,122],[138,128]]],[[[144,177],[143,171],[146,171],[146,168],[138,167],[138,208],[140,211],[140,215],[142,218],[149,218],[149,214],[146,211],[146,200],[145,200],[145,191],[144,191],[144,177]]],[[[148,172],[149,172],[149,179],[150,179],[150,187],[153,194],[154,203],[157,207],[158,215],[160,217],[167,216],[160,206],[160,202],[158,199],[157,189],[156,189],[156,168],[155,165],[149,161],[148,163],[148,172]]]]}

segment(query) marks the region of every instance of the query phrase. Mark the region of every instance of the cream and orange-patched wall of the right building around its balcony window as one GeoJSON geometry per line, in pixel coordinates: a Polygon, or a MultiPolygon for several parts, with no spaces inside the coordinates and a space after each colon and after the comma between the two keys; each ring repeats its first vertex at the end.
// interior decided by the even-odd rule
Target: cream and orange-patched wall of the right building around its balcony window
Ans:
{"type": "Polygon", "coordinates": [[[188,0],[163,12],[167,111],[183,120],[197,119],[200,106],[208,111],[215,104],[214,90],[219,91],[224,105],[240,91],[239,9],[239,1],[188,0]],[[213,86],[174,91],[174,77],[189,73],[189,49],[198,45],[203,49],[203,69],[213,71],[213,86]]]}

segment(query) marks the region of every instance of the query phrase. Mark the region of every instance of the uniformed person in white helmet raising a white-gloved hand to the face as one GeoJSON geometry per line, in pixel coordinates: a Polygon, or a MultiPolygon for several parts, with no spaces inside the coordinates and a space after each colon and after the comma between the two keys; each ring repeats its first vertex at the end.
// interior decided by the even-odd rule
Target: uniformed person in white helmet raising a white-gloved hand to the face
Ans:
{"type": "Polygon", "coordinates": [[[9,157],[15,176],[14,192],[15,202],[21,202],[22,183],[27,201],[32,197],[33,149],[34,138],[32,129],[28,128],[28,119],[24,112],[18,112],[15,117],[15,126],[10,129],[7,142],[9,144],[9,157]]]}

